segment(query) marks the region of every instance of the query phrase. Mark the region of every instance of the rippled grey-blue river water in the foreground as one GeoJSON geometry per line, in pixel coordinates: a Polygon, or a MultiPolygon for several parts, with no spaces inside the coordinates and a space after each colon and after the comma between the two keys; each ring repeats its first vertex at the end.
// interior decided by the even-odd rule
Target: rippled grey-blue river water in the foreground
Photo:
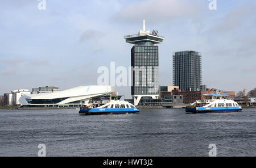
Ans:
{"type": "Polygon", "coordinates": [[[77,110],[0,110],[0,156],[256,156],[256,109],[185,114],[79,115],[77,110]]]}

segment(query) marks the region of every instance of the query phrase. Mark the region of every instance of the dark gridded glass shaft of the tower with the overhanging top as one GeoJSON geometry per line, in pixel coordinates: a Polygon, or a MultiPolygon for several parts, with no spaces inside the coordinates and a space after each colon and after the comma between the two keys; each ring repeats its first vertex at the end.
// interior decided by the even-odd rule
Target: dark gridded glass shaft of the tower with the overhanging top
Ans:
{"type": "Polygon", "coordinates": [[[144,44],[131,48],[131,66],[134,68],[132,95],[158,94],[158,46],[144,44]]]}

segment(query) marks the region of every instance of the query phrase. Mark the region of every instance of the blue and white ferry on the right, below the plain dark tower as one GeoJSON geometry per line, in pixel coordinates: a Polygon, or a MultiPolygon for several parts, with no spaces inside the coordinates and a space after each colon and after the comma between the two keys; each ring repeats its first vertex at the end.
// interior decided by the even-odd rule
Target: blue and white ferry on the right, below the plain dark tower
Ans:
{"type": "Polygon", "coordinates": [[[206,113],[206,112],[238,112],[242,111],[242,107],[228,100],[229,95],[221,94],[205,94],[203,100],[196,100],[191,106],[185,108],[189,113],[206,113]]]}

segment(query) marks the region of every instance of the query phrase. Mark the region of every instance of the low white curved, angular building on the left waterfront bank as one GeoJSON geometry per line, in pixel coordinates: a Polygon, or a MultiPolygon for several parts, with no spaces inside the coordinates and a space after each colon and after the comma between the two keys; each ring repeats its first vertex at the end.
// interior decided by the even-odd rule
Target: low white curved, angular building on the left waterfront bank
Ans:
{"type": "Polygon", "coordinates": [[[81,107],[90,99],[114,92],[114,86],[79,86],[56,93],[24,95],[19,107],[81,107]]]}

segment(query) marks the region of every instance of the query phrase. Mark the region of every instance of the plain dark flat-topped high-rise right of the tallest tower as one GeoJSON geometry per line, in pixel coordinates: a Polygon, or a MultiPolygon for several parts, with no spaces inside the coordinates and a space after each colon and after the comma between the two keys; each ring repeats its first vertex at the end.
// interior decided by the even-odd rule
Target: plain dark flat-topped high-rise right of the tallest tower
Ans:
{"type": "Polygon", "coordinates": [[[201,53],[196,51],[174,52],[172,56],[173,83],[184,91],[200,91],[201,53]]]}

